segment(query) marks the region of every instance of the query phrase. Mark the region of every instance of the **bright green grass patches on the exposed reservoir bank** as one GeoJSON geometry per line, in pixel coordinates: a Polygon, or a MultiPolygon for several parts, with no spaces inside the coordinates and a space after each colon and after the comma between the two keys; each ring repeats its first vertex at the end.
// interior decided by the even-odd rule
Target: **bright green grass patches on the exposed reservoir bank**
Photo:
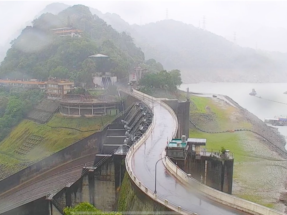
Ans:
{"type": "MultiPolygon", "coordinates": [[[[219,102],[216,102],[216,99],[191,96],[191,105],[190,105],[190,118],[191,120],[198,122],[196,125],[199,128],[204,130],[212,129],[213,131],[223,131],[231,130],[234,128],[251,128],[252,125],[241,117],[234,117],[237,109],[231,105],[220,105],[219,102]],[[210,122],[204,121],[202,115],[207,114],[211,116],[210,122]],[[198,115],[198,116],[197,116],[198,115]],[[197,119],[196,119],[197,118],[197,119]],[[209,125],[206,125],[208,123],[209,125]],[[207,128],[206,128],[207,127],[207,128]],[[230,128],[232,127],[232,128],[230,128]]],[[[254,139],[252,133],[245,133],[244,139],[254,139]]],[[[252,171],[254,166],[250,166],[250,162],[259,161],[259,158],[252,156],[252,153],[246,151],[242,141],[242,133],[227,132],[227,133],[205,133],[197,130],[192,127],[190,129],[191,138],[206,138],[207,139],[207,148],[218,149],[224,147],[234,153],[234,173],[233,178],[239,180],[243,184],[248,182],[243,181],[243,178],[240,177],[245,171],[252,171]],[[242,168],[244,166],[244,168],[242,168]]],[[[256,202],[261,205],[265,205],[270,208],[274,208],[273,203],[268,203],[263,200],[261,196],[253,195],[252,193],[246,195],[237,195],[238,197],[247,199],[252,202],[256,202]]]]}

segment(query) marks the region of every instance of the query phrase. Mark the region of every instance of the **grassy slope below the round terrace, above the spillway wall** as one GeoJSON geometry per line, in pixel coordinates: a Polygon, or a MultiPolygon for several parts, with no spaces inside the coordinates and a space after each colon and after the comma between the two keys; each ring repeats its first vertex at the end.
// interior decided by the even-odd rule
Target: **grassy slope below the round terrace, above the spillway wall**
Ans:
{"type": "Polygon", "coordinates": [[[102,125],[111,121],[114,116],[102,116],[95,118],[72,118],[55,114],[47,124],[39,124],[27,119],[22,120],[13,128],[12,132],[0,143],[0,164],[11,167],[15,164],[27,161],[35,161],[47,157],[72,143],[91,135],[102,125]],[[51,128],[50,126],[62,126],[77,128],[81,132],[68,128],[51,128]],[[42,136],[44,139],[26,155],[15,152],[32,135],[42,136]]]}

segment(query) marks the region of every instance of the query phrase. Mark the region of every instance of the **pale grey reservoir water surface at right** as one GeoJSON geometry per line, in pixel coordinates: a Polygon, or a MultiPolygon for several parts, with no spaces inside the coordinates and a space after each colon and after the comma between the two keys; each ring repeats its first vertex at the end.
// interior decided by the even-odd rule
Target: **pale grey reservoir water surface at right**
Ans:
{"type": "MultiPolygon", "coordinates": [[[[187,90],[197,93],[212,93],[229,96],[241,107],[253,113],[259,119],[273,118],[275,115],[287,115],[287,91],[286,83],[227,83],[227,82],[201,82],[198,84],[183,84],[180,90],[187,90]],[[249,95],[252,89],[255,89],[257,95],[262,98],[249,95]],[[273,100],[283,102],[268,101],[273,100]]],[[[279,132],[287,137],[287,126],[273,126],[278,128],[279,132]]],[[[285,146],[287,150],[287,145],[285,146]]]]}

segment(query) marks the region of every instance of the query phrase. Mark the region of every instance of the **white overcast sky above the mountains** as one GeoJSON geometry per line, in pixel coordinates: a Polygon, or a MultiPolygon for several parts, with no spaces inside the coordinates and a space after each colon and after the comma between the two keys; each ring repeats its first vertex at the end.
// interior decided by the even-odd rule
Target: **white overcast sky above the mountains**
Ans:
{"type": "MultiPolygon", "coordinates": [[[[168,10],[169,19],[197,27],[205,15],[207,30],[229,40],[233,40],[236,31],[238,43],[261,27],[287,28],[286,1],[0,1],[0,44],[53,2],[83,4],[103,13],[117,13],[130,24],[163,20],[168,10]]],[[[250,46],[255,47],[255,40],[248,41],[250,46]]]]}

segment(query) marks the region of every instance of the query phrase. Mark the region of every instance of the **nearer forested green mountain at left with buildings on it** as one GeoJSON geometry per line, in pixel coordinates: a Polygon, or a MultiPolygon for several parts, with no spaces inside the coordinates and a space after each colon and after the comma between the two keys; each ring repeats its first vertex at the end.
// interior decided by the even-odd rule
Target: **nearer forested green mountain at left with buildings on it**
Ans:
{"type": "Polygon", "coordinates": [[[0,77],[46,80],[52,75],[91,82],[91,72],[99,68],[123,78],[131,67],[143,63],[153,69],[162,68],[155,60],[145,62],[144,53],[125,32],[118,33],[92,15],[88,7],[75,5],[58,15],[42,14],[33,26],[27,26],[7,51],[0,77]],[[82,30],[82,36],[59,37],[51,33],[51,29],[70,26],[82,30]],[[109,63],[87,59],[97,53],[110,56],[109,63]]]}

